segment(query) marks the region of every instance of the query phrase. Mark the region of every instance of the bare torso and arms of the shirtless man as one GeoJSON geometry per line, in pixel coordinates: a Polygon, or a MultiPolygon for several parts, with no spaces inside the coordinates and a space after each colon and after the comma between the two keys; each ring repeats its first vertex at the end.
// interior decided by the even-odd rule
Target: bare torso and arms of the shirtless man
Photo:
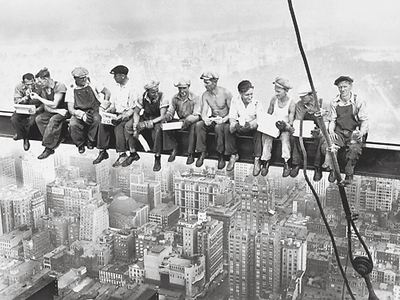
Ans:
{"type": "Polygon", "coordinates": [[[232,94],[226,88],[217,86],[213,92],[205,91],[201,97],[202,117],[208,117],[211,108],[213,117],[226,117],[229,114],[229,107],[232,101],[232,94]]]}

